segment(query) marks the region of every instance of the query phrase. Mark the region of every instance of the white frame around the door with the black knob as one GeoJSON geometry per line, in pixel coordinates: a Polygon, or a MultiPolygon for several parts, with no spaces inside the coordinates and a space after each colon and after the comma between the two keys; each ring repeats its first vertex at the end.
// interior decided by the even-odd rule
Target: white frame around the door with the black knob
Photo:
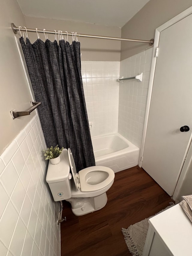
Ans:
{"type": "MultiPolygon", "coordinates": [[[[157,47],[159,46],[160,34],[163,30],[165,30],[168,27],[172,26],[173,24],[179,22],[180,20],[184,19],[185,17],[189,16],[190,14],[192,14],[192,6],[190,8],[187,8],[185,11],[178,14],[177,16],[173,17],[171,20],[167,21],[163,25],[159,26],[157,29],[155,29],[155,39],[154,39],[154,45],[153,45],[151,72],[150,72],[150,77],[149,77],[149,89],[148,89],[148,95],[147,95],[146,113],[145,113],[143,136],[142,136],[142,140],[141,140],[141,148],[140,148],[140,155],[139,155],[139,167],[142,166],[142,161],[143,161],[143,152],[144,152],[144,146],[145,146],[145,140],[146,140],[149,109],[150,109],[151,98],[152,98],[152,89],[153,89],[153,82],[154,82],[154,77],[155,77],[156,62],[157,62],[157,58],[158,58],[158,57],[155,57],[155,54],[156,54],[157,47]]],[[[182,186],[182,182],[184,180],[184,177],[187,173],[187,169],[189,167],[189,164],[184,164],[184,160],[186,158],[186,160],[188,159],[187,162],[189,162],[192,159],[192,155],[191,155],[192,150],[189,150],[190,144],[192,144],[191,141],[192,141],[192,134],[191,134],[189,143],[187,145],[187,149],[185,151],[184,158],[183,158],[181,168],[179,171],[179,175],[180,175],[181,170],[182,170],[182,175],[180,175],[178,177],[179,181],[176,184],[176,188],[175,188],[175,191],[173,194],[173,198],[175,198],[175,199],[176,199],[177,195],[179,194],[179,190],[182,186]],[[190,155],[189,154],[187,155],[188,151],[190,151],[190,155]]],[[[192,145],[191,145],[191,147],[192,147],[192,145]]]]}

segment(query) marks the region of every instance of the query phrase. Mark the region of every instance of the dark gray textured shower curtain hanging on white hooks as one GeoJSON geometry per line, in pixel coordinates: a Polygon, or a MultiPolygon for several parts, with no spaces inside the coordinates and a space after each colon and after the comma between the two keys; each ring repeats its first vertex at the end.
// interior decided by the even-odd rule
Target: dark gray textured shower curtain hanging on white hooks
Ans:
{"type": "Polygon", "coordinates": [[[31,44],[23,37],[25,56],[47,147],[68,148],[77,171],[95,165],[81,77],[80,43],[64,40],[31,44]]]}

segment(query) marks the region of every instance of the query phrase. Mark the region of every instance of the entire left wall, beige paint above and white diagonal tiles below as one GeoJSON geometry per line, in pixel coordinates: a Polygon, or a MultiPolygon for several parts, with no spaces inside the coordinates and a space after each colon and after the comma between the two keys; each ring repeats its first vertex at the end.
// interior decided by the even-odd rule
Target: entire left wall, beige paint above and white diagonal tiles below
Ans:
{"type": "Polygon", "coordinates": [[[42,149],[46,146],[38,117],[33,118],[36,111],[14,120],[10,115],[13,109],[29,109],[32,100],[19,55],[19,36],[14,35],[11,22],[26,25],[16,0],[2,0],[0,255],[58,256],[58,206],[45,182],[42,149]]]}

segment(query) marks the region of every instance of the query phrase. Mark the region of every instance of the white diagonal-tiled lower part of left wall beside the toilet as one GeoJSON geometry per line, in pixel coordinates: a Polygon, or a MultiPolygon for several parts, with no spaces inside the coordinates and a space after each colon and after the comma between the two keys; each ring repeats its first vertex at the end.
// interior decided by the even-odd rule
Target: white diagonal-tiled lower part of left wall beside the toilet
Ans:
{"type": "Polygon", "coordinates": [[[36,115],[0,156],[1,256],[59,255],[58,203],[45,181],[43,149],[36,115]]]}

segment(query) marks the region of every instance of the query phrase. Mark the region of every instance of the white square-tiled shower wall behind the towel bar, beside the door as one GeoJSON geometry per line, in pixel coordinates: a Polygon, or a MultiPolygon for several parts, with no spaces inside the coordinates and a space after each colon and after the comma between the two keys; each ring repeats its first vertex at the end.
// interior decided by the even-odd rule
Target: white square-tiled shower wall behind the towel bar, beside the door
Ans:
{"type": "Polygon", "coordinates": [[[143,133],[152,51],[150,48],[120,62],[120,77],[133,77],[143,72],[142,82],[119,83],[118,132],[138,147],[143,133]]]}

